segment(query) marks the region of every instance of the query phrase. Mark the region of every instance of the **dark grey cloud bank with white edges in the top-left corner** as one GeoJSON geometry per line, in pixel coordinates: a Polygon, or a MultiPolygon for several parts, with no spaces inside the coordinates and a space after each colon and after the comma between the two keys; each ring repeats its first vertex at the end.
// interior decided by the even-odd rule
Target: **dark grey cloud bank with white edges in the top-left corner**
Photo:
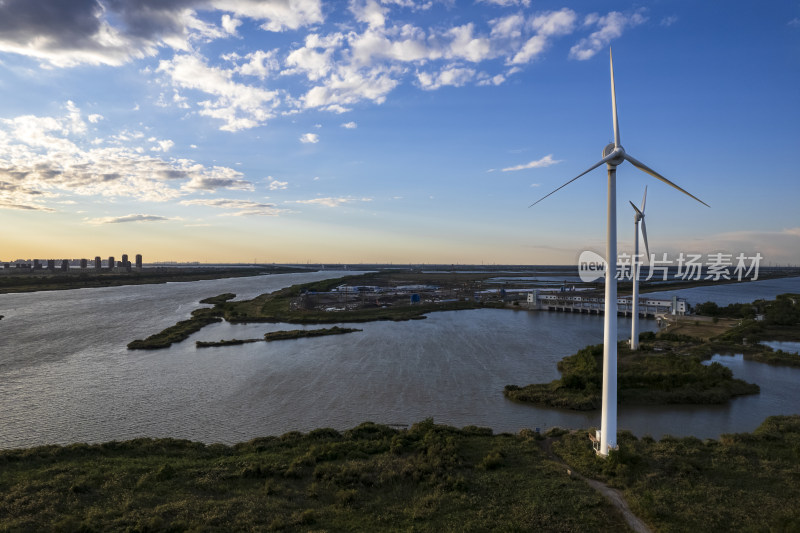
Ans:
{"type": "Polygon", "coordinates": [[[0,2],[0,51],[55,67],[118,66],[163,47],[189,51],[194,40],[234,35],[240,18],[273,32],[324,20],[321,0],[8,0],[0,2]],[[204,22],[199,11],[222,12],[221,28],[204,22]]]}

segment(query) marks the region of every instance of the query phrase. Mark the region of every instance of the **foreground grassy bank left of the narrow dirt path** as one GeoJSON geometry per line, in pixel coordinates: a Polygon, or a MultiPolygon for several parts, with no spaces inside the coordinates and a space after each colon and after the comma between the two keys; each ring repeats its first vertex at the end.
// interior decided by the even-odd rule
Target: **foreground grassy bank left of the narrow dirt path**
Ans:
{"type": "Polygon", "coordinates": [[[530,432],[371,423],[0,452],[2,531],[624,530],[530,432]]]}

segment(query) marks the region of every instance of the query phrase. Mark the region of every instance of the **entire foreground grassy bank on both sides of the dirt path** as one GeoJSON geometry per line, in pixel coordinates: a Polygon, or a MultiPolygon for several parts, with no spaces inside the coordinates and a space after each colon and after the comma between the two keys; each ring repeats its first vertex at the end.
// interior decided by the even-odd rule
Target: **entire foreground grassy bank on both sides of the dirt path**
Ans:
{"type": "MultiPolygon", "coordinates": [[[[800,528],[800,416],[719,441],[636,439],[598,458],[547,442],[619,488],[656,531],[800,528]]],[[[619,513],[529,430],[430,421],[293,432],[235,446],[173,439],[0,451],[0,531],[624,531],[619,513]]]]}

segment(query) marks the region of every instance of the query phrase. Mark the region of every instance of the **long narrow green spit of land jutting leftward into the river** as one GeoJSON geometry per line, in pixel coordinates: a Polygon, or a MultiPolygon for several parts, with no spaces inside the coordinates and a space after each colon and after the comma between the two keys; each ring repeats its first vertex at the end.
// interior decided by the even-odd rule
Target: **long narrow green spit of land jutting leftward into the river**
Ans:
{"type": "MultiPolygon", "coordinates": [[[[387,275],[393,275],[391,273],[387,275]]],[[[207,298],[201,303],[213,304],[213,308],[192,311],[192,318],[178,322],[174,326],[151,335],[144,340],[128,344],[131,350],[167,348],[173,342],[188,338],[208,324],[227,320],[231,323],[247,322],[286,322],[290,324],[330,324],[336,322],[371,322],[375,320],[418,320],[434,311],[453,311],[474,309],[482,305],[474,301],[450,301],[442,303],[423,303],[415,305],[395,305],[385,308],[355,309],[348,311],[320,311],[306,309],[299,303],[313,298],[317,292],[327,292],[342,283],[366,283],[380,274],[347,276],[313,283],[292,285],[279,291],[262,294],[252,300],[231,302],[234,295],[220,295],[207,298]],[[229,297],[227,297],[229,296],[229,297]],[[227,297],[227,298],[226,298],[227,297]]],[[[290,337],[291,338],[291,337],[290,337]]],[[[236,342],[236,344],[241,344],[236,342]]]]}

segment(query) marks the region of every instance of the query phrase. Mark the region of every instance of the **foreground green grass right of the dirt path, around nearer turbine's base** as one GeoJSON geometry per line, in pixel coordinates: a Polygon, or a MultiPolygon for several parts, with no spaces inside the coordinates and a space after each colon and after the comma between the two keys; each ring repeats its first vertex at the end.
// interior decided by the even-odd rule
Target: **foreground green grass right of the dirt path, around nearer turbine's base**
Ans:
{"type": "Polygon", "coordinates": [[[619,436],[608,459],[586,433],[554,450],[576,470],[623,491],[656,531],[800,531],[800,416],[774,416],[753,433],[637,439],[619,436]]]}

